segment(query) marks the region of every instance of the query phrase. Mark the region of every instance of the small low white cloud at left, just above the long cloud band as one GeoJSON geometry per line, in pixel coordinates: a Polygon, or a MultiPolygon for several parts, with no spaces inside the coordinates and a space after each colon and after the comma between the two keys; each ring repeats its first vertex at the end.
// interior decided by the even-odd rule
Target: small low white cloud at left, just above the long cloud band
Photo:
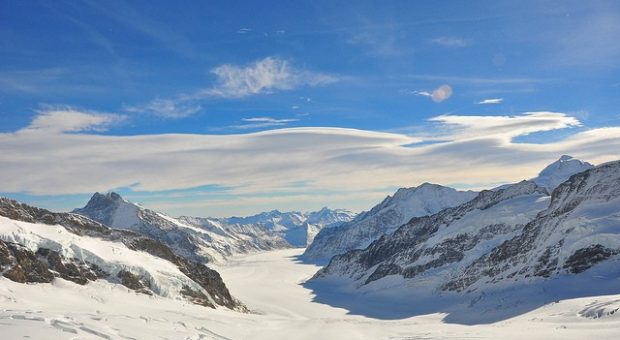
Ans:
{"type": "Polygon", "coordinates": [[[48,107],[39,112],[22,132],[84,132],[105,131],[125,117],[109,113],[84,112],[71,107],[48,107]]]}

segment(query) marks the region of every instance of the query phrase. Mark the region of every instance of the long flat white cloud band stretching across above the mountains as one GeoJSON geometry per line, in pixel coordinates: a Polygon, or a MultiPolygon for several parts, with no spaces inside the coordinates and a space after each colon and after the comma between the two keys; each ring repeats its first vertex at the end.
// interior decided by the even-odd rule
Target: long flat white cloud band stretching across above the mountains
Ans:
{"type": "MultiPolygon", "coordinates": [[[[75,110],[42,112],[22,130],[40,133],[0,134],[2,190],[71,194],[126,186],[158,191],[216,184],[232,188],[234,205],[235,195],[268,195],[291,188],[292,182],[307,183],[296,188],[303,195],[330,191],[337,199],[339,192],[351,188],[378,192],[424,181],[517,181],[535,176],[561,154],[594,163],[620,159],[620,127],[579,129],[544,144],[515,142],[518,136],[581,124],[553,112],[435,117],[434,125],[419,133],[442,137],[434,143],[398,133],[321,127],[229,135],[68,133],[103,128],[115,120],[102,117],[75,110]]],[[[298,204],[303,208],[304,202],[298,204]]]]}

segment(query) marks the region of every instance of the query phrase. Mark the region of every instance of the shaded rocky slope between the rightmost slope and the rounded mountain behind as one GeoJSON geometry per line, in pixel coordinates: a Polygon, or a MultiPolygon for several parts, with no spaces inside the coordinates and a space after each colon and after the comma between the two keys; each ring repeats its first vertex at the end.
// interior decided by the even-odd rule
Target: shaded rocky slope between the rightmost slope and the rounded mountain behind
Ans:
{"type": "Polygon", "coordinates": [[[344,276],[365,285],[388,275],[424,275],[427,287],[441,284],[457,267],[518,234],[547,207],[548,198],[547,190],[531,181],[482,191],[457,207],[413,218],[364,250],[334,257],[316,278],[344,276]]]}

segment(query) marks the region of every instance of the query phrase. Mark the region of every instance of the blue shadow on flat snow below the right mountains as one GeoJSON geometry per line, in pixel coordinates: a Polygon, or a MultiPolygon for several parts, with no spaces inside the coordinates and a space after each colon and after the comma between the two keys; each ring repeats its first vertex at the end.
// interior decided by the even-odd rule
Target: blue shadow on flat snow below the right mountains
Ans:
{"type": "MultiPolygon", "coordinates": [[[[307,263],[299,257],[294,260],[307,263]]],[[[440,313],[446,323],[477,325],[507,320],[561,300],[620,294],[620,261],[578,275],[510,281],[470,293],[438,293],[415,285],[362,292],[347,288],[351,281],[323,278],[301,285],[314,293],[314,302],[344,308],[351,315],[400,320],[440,313]]]]}

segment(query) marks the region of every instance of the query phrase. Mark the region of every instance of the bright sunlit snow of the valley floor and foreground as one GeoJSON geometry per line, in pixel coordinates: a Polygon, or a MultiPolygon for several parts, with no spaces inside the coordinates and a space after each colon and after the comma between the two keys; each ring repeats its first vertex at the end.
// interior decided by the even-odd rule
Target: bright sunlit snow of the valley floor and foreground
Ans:
{"type": "Polygon", "coordinates": [[[64,280],[23,285],[0,278],[1,339],[614,339],[620,295],[553,303],[505,321],[447,324],[443,314],[382,320],[313,302],[301,283],[317,266],[296,261],[302,249],[253,254],[216,268],[254,314],[212,310],[149,297],[120,285],[64,280]]]}

